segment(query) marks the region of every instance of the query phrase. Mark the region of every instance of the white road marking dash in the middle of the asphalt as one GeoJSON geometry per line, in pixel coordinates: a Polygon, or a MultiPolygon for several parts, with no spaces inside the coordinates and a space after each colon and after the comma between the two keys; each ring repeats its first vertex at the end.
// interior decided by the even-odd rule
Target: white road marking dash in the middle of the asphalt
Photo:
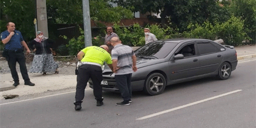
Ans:
{"type": "Polygon", "coordinates": [[[187,105],[183,105],[183,106],[179,106],[179,107],[176,107],[176,108],[160,111],[160,112],[155,113],[155,114],[150,114],[150,115],[147,115],[147,116],[143,116],[143,117],[137,118],[136,120],[147,119],[147,118],[151,118],[151,117],[158,116],[158,115],[161,115],[161,114],[169,113],[169,112],[174,111],[174,110],[178,110],[178,109],[181,109],[181,108],[186,108],[186,107],[189,107],[189,106],[193,106],[193,105],[196,105],[198,103],[202,103],[202,102],[205,102],[205,101],[220,98],[220,97],[223,97],[225,95],[229,95],[229,94],[240,92],[240,91],[243,91],[243,90],[236,90],[236,91],[220,94],[220,95],[217,95],[215,97],[207,98],[207,99],[204,99],[204,100],[199,100],[199,101],[196,101],[196,102],[193,102],[193,103],[188,103],[187,105]]]}

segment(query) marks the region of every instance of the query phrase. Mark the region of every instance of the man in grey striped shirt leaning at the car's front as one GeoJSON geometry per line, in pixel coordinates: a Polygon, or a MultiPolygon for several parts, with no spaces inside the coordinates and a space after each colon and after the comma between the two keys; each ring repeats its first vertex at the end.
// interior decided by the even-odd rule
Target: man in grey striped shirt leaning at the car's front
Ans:
{"type": "Polygon", "coordinates": [[[111,52],[116,84],[121,92],[123,102],[116,103],[117,106],[130,105],[132,102],[131,78],[133,71],[137,71],[136,55],[132,48],[123,45],[118,37],[111,38],[114,49],[111,52]]]}

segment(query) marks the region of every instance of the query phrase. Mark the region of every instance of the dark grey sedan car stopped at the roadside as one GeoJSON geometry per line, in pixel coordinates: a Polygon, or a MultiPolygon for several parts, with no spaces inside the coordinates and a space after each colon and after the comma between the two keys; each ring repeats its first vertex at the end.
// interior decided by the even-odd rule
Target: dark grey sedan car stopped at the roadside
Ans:
{"type": "MultiPolygon", "coordinates": [[[[148,43],[134,51],[138,70],[132,74],[132,90],[161,94],[165,86],[217,76],[228,79],[237,66],[234,46],[208,39],[166,39],[148,43]]],[[[103,91],[118,91],[115,73],[103,70],[103,91]]],[[[92,81],[89,81],[93,88],[92,81]]]]}

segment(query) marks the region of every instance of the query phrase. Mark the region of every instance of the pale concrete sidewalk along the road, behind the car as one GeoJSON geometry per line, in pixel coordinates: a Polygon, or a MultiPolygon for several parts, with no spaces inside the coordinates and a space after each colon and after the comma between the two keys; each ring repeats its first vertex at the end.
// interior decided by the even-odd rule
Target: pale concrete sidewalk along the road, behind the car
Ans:
{"type": "MultiPolygon", "coordinates": [[[[253,46],[238,46],[235,47],[237,51],[237,59],[256,58],[256,45],[253,46]]],[[[30,81],[35,83],[35,86],[24,85],[24,81],[20,73],[20,85],[17,87],[12,86],[13,79],[11,74],[1,74],[0,76],[0,97],[3,99],[3,95],[29,95],[39,94],[47,91],[58,91],[66,89],[74,89],[76,87],[76,75],[61,75],[61,74],[49,74],[42,76],[42,74],[30,73],[30,81]]]]}

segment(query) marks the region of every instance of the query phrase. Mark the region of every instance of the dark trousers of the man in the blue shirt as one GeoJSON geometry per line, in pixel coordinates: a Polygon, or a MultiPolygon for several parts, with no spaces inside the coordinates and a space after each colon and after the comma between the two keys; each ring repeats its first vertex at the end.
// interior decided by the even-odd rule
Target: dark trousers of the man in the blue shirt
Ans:
{"type": "Polygon", "coordinates": [[[11,74],[14,82],[19,82],[19,76],[16,70],[16,62],[18,62],[20,65],[20,72],[25,83],[30,81],[28,77],[27,67],[26,67],[26,58],[23,52],[8,51],[7,61],[8,61],[8,65],[11,70],[11,74]]]}

